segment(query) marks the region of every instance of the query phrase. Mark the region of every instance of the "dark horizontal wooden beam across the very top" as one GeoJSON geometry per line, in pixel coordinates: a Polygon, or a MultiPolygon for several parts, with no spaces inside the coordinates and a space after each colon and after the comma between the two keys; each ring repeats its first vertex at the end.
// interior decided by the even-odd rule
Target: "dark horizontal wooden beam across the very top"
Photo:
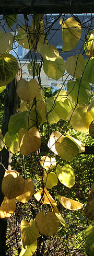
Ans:
{"type": "Polygon", "coordinates": [[[93,0],[3,0],[0,14],[82,14],[93,9],[93,0]]]}

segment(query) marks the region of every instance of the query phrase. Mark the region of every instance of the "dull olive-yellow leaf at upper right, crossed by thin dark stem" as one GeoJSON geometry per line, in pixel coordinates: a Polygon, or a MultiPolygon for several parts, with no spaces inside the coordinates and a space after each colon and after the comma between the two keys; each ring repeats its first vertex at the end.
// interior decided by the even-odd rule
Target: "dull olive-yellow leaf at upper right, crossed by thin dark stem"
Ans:
{"type": "Polygon", "coordinates": [[[65,69],[69,75],[79,78],[85,68],[84,57],[82,54],[77,54],[76,56],[70,56],[65,62],[65,69]]]}

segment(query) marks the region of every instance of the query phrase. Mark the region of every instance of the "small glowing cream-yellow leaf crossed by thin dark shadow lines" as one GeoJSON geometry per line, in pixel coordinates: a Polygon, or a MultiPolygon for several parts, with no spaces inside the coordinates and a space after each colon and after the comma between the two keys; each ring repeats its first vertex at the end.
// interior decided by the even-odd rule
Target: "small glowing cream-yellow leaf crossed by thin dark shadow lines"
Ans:
{"type": "Polygon", "coordinates": [[[46,170],[52,170],[56,166],[56,159],[55,157],[42,156],[40,164],[46,170]]]}

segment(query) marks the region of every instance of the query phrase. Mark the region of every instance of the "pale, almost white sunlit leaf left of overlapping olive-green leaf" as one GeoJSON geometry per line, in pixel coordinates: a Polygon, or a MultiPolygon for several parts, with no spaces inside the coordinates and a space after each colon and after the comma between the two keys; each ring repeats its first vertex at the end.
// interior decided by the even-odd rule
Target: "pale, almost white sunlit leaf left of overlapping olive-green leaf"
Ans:
{"type": "Polygon", "coordinates": [[[54,154],[58,154],[55,148],[55,142],[62,142],[62,138],[64,137],[64,135],[62,135],[62,133],[56,131],[54,133],[51,133],[50,138],[49,138],[49,142],[48,142],[48,147],[52,150],[52,152],[54,152],[54,154]]]}

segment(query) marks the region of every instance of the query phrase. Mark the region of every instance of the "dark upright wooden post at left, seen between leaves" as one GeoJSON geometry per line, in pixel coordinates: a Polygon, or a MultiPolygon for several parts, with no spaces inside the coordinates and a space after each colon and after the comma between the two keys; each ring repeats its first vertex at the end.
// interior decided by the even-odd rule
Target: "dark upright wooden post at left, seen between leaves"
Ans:
{"type": "MultiPolygon", "coordinates": [[[[4,104],[4,118],[2,126],[3,136],[8,131],[8,122],[10,116],[15,114],[18,107],[18,96],[16,94],[16,83],[21,78],[21,70],[18,70],[16,78],[7,85],[5,91],[5,104],[4,104]]],[[[4,177],[5,169],[11,169],[11,157],[12,154],[3,148],[0,153],[0,162],[3,164],[0,165],[0,205],[4,199],[4,195],[1,190],[1,184],[4,177]],[[4,166],[4,167],[3,167],[4,166]]],[[[6,228],[7,228],[7,219],[0,219],[0,256],[5,256],[5,242],[6,242],[6,228]]]]}

